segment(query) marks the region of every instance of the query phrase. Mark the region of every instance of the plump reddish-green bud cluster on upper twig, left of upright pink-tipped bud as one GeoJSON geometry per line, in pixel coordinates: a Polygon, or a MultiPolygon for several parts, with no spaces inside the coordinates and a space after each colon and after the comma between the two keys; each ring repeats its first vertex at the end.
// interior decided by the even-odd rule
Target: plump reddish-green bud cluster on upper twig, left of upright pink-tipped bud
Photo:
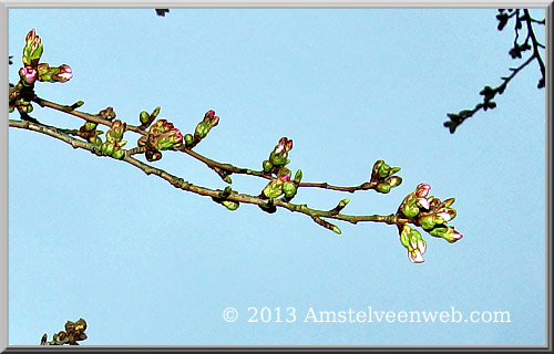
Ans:
{"type": "Polygon", "coordinates": [[[148,129],[147,136],[142,136],[138,146],[146,147],[146,159],[148,162],[162,158],[161,150],[179,148],[183,146],[183,134],[166,119],[158,119],[148,129]]]}

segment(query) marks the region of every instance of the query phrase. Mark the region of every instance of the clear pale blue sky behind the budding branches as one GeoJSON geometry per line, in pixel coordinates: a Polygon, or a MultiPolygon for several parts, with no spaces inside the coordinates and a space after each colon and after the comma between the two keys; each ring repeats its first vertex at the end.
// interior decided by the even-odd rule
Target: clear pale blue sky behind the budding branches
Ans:
{"type": "MultiPolygon", "coordinates": [[[[543,10],[534,10],[544,18],[543,10]]],[[[24,37],[73,79],[41,97],[82,111],[113,106],[137,124],[192,132],[219,125],[196,150],[259,169],[281,136],[306,181],[352,186],[384,159],[403,184],[389,195],[300,189],[296,202],[352,215],[394,212],[420,183],[455,197],[450,244],[423,233],[413,264],[394,226],[302,215],[230,212],[131,165],[48,136],[9,133],[9,342],[38,344],[84,317],[85,345],[544,345],[545,95],[536,63],[450,135],[448,112],[472,107],[515,65],[496,10],[10,10],[10,80],[24,37]],[[226,308],[238,320],[223,320],[226,308]],[[296,308],[295,323],[248,323],[249,306],[296,308]],[[315,311],[509,311],[510,323],[314,323],[315,311]]],[[[544,38],[544,30],[540,33],[544,38]]],[[[35,107],[41,122],[81,119],[35,107]]],[[[10,118],[18,118],[11,114],[10,118]]],[[[131,133],[126,136],[134,146],[131,133]],[[129,135],[129,136],[127,136],[129,135]]],[[[209,188],[225,184],[184,154],[155,166],[209,188]]],[[[265,180],[234,176],[257,195],[265,180]]],[[[275,310],[274,310],[275,311],[275,310]]],[[[275,319],[275,312],[274,319],[275,319]]]]}

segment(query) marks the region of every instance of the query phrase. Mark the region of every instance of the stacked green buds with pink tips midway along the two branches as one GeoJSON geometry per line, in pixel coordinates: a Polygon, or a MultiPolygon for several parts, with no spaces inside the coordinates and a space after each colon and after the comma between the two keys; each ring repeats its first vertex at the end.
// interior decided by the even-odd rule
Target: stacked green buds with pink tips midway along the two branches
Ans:
{"type": "Polygon", "coordinates": [[[290,201],[295,197],[298,185],[302,179],[302,170],[298,169],[295,174],[295,178],[291,179],[290,169],[285,167],[285,165],[290,163],[287,157],[291,148],[293,140],[281,137],[279,144],[277,144],[269,154],[269,158],[264,160],[264,173],[274,175],[274,178],[264,188],[260,197],[274,199],[285,195],[286,201],[290,201]]]}

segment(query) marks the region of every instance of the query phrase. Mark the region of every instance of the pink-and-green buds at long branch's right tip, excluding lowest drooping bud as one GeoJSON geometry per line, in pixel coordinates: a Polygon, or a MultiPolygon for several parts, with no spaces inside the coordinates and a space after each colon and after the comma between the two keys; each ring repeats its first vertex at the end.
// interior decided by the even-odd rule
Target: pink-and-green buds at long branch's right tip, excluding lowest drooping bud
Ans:
{"type": "Polygon", "coordinates": [[[441,201],[439,198],[429,196],[431,186],[420,184],[414,191],[410,192],[399,207],[398,212],[421,226],[423,230],[434,237],[443,238],[449,242],[460,240],[463,235],[447,222],[456,216],[455,209],[451,208],[454,198],[441,201]]]}

